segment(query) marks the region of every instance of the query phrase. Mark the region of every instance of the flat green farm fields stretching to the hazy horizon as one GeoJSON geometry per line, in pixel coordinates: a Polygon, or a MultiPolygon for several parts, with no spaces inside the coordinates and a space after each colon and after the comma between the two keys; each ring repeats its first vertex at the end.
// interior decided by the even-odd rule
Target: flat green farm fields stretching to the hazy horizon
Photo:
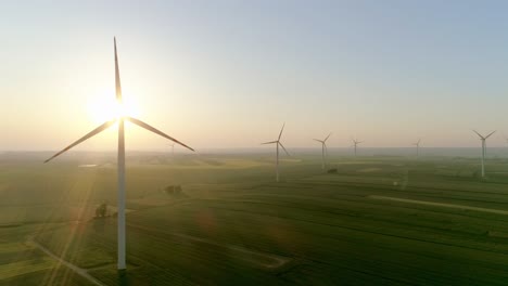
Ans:
{"type": "MultiPolygon", "coordinates": [[[[102,202],[114,213],[114,156],[39,156],[0,161],[0,285],[117,285],[115,217],[93,219],[102,202]]],[[[282,160],[275,183],[269,154],[129,156],[128,282],[508,284],[508,160],[488,160],[484,180],[474,158],[320,166],[282,160]]]]}

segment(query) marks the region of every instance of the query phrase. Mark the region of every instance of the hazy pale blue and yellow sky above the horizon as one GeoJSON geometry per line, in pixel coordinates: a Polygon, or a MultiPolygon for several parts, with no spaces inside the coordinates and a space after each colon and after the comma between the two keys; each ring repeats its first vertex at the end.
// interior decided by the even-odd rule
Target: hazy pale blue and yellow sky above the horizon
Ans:
{"type": "MultiPolygon", "coordinates": [[[[1,1],[0,150],[59,150],[124,96],[191,146],[508,135],[506,1],[1,1]],[[51,2],[51,4],[50,4],[51,2]],[[22,4],[23,3],[23,4],[22,4]],[[105,110],[104,110],[105,109],[105,110]]],[[[128,150],[167,143],[131,126],[128,150]]],[[[107,132],[79,150],[113,150],[107,132]]]]}

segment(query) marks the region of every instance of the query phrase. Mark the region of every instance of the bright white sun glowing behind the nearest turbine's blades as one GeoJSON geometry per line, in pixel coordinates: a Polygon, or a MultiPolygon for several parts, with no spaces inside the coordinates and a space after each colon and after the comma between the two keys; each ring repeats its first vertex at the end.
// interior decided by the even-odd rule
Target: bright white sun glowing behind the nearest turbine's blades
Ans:
{"type": "Polygon", "coordinates": [[[132,101],[132,96],[124,96],[122,103],[118,103],[114,93],[101,92],[90,96],[87,105],[90,119],[94,123],[103,123],[125,116],[139,116],[139,105],[132,101]]]}

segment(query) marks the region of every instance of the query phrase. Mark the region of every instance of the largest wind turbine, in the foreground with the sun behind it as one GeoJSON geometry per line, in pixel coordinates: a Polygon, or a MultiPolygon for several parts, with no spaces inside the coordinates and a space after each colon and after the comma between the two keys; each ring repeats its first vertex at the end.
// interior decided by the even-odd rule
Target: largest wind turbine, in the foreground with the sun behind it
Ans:
{"type": "MultiPolygon", "coordinates": [[[[116,38],[113,38],[114,41],[114,50],[115,50],[115,86],[116,86],[116,102],[118,106],[122,106],[122,87],[120,87],[120,79],[119,79],[119,70],[118,70],[118,56],[116,54],[116,38]]],[[[117,158],[117,164],[118,164],[118,271],[119,272],[125,272],[126,269],[126,252],[125,252],[125,200],[126,200],[126,195],[125,195],[125,138],[124,138],[124,121],[128,120],[141,128],[144,128],[149,131],[154,132],[155,134],[158,134],[163,138],[166,138],[177,144],[180,144],[181,146],[194,151],[193,148],[189,147],[188,145],[181,143],[180,141],[163,133],[162,131],[149,126],[148,123],[132,118],[128,117],[125,115],[119,115],[117,118],[114,118],[110,121],[104,122],[103,125],[99,126],[98,128],[93,129],[90,131],[88,134],[85,136],[80,138],[73,144],[68,145],[61,152],[56,153],[53,155],[51,158],[47,159],[45,162],[50,161],[54,157],[61,155],[62,153],[71,150],[72,147],[76,146],[77,144],[86,141],[89,138],[92,138],[93,135],[100,133],[101,131],[107,129],[115,122],[118,122],[118,158],[117,158]]]]}

